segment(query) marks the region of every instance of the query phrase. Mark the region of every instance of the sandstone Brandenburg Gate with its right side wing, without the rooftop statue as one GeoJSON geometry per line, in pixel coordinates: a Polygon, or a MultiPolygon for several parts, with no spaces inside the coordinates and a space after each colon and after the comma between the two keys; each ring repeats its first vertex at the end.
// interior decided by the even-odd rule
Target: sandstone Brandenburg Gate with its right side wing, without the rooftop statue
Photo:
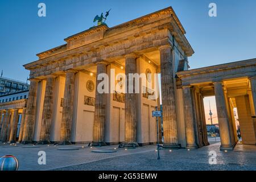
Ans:
{"type": "MultiPolygon", "coordinates": [[[[154,144],[156,122],[151,113],[160,100],[150,99],[157,88],[148,85],[158,82],[157,77],[147,77],[144,84],[139,81],[144,93],[117,92],[111,86],[104,87],[108,93],[100,93],[103,79],[98,76],[160,73],[163,147],[209,144],[203,98],[214,95],[221,149],[232,150],[237,142],[233,107],[247,123],[246,131],[250,123],[248,142],[255,144],[256,125],[250,114],[255,114],[256,60],[188,70],[188,57],[194,52],[185,33],[168,7],[112,28],[100,24],[38,53],[38,60],[24,65],[30,70],[31,86],[22,142],[154,144]]],[[[134,90],[130,81],[125,86],[134,90]]]]}

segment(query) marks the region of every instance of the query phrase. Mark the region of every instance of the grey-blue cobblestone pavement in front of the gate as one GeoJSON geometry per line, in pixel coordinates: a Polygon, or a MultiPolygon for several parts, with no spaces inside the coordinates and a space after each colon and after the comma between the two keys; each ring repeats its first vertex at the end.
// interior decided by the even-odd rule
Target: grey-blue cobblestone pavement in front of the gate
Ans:
{"type": "Polygon", "coordinates": [[[0,156],[11,154],[19,160],[19,170],[254,170],[256,171],[256,146],[237,144],[234,151],[220,151],[220,142],[197,150],[160,150],[157,160],[155,146],[117,148],[86,145],[32,146],[0,144],[0,156]],[[84,148],[82,148],[84,146],[84,148]],[[26,148],[24,148],[26,147],[26,148]],[[27,148],[32,147],[32,148],[27,148]],[[57,150],[58,148],[79,150],[57,150]],[[114,149],[116,148],[116,149],[114,149]],[[92,150],[115,150],[115,153],[94,153],[92,150]],[[38,152],[46,152],[46,165],[38,164],[38,152]],[[215,151],[217,164],[209,164],[209,152],[215,151]],[[100,162],[100,165],[98,163],[100,162]]]}

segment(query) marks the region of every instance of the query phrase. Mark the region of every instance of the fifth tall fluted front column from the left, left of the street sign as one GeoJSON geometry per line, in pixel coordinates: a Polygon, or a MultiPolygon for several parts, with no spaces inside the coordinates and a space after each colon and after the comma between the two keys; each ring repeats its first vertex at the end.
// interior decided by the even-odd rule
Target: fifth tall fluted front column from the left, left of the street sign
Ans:
{"type": "Polygon", "coordinates": [[[125,146],[138,146],[137,143],[137,107],[133,79],[129,73],[137,73],[137,56],[125,56],[126,94],[125,94],[125,146]],[[133,88],[130,88],[130,87],[133,88]],[[130,93],[129,93],[130,90],[130,93]]]}

